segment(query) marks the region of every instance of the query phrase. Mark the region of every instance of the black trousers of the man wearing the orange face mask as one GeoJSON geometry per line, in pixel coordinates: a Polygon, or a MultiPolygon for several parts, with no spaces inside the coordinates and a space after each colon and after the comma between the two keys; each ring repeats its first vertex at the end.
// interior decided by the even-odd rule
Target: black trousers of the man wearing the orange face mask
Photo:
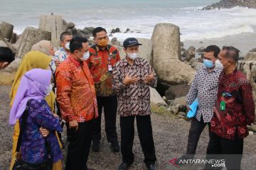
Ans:
{"type": "Polygon", "coordinates": [[[102,108],[105,115],[105,131],[108,142],[117,142],[117,96],[99,97],[97,96],[97,108],[99,117],[95,120],[95,130],[93,131],[92,140],[95,144],[100,144],[101,139],[101,117],[102,108]]]}

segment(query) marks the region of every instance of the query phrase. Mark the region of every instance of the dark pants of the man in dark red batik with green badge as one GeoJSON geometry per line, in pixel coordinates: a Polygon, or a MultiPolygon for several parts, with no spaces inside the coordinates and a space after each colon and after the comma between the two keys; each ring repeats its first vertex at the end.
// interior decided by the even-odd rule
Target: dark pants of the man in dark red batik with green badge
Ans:
{"type": "MultiPolygon", "coordinates": [[[[237,134],[234,140],[227,140],[210,132],[206,159],[224,159],[226,169],[240,169],[242,150],[243,138],[239,139],[237,134]]],[[[221,168],[214,168],[211,164],[206,164],[205,169],[221,168]]]]}

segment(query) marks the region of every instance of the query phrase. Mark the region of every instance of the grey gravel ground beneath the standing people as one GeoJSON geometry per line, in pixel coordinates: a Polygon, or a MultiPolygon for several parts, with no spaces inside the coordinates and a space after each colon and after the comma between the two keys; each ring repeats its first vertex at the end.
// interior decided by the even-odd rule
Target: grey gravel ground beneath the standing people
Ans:
{"type": "MultiPolygon", "coordinates": [[[[13,128],[8,125],[9,118],[9,91],[11,86],[0,86],[0,170],[8,169],[11,162],[11,145],[13,128]]],[[[159,170],[171,169],[202,169],[202,166],[185,165],[174,166],[169,163],[171,159],[180,157],[186,150],[186,142],[190,123],[185,120],[170,115],[151,115],[153,125],[154,143],[156,146],[157,168],[159,170]]],[[[117,119],[117,133],[120,134],[119,119],[117,119]]],[[[103,131],[104,123],[102,123],[102,142],[99,153],[90,152],[88,166],[93,169],[112,170],[117,169],[117,166],[122,160],[120,153],[112,153],[110,144],[107,143],[105,132],[103,131]]],[[[64,132],[65,134],[65,132],[64,132]]],[[[120,135],[119,135],[120,137],[120,135]]],[[[63,137],[65,140],[65,137],[63,137]]],[[[242,169],[256,169],[256,135],[250,135],[245,138],[244,157],[242,159],[242,169]]],[[[198,142],[196,158],[205,157],[206,147],[208,144],[208,130],[203,131],[201,139],[198,142]]],[[[63,154],[66,153],[66,148],[63,149],[63,154]]],[[[146,169],[144,166],[144,157],[142,149],[139,145],[137,132],[134,139],[134,154],[135,161],[131,166],[131,170],[146,169]]],[[[65,159],[63,164],[65,163],[65,159]]]]}

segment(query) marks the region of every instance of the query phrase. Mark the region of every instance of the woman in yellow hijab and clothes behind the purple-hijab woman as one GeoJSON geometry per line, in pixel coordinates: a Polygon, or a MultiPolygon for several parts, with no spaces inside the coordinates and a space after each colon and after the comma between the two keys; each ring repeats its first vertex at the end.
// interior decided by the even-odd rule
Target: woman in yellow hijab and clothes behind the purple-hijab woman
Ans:
{"type": "MultiPolygon", "coordinates": [[[[23,77],[23,74],[25,74],[31,69],[36,69],[36,68],[48,69],[50,60],[51,58],[48,55],[45,55],[42,52],[38,52],[38,51],[31,51],[31,52],[28,52],[26,55],[24,55],[23,59],[21,60],[21,64],[18,67],[18,71],[16,72],[16,75],[14,78],[14,84],[11,87],[11,92],[10,92],[11,106],[14,102],[14,98],[16,96],[16,92],[18,90],[18,86],[20,84],[21,77],[23,77]]],[[[46,96],[46,101],[50,106],[50,108],[52,109],[52,111],[54,111],[55,94],[53,93],[53,91],[50,92],[50,95],[46,96]]],[[[13,151],[12,151],[10,170],[14,166],[14,162],[16,159],[16,145],[18,142],[19,132],[20,132],[20,128],[17,120],[16,125],[14,126],[14,136],[13,136],[14,141],[13,141],[13,151]]],[[[60,147],[62,147],[61,144],[60,144],[60,147]]],[[[61,161],[53,164],[53,170],[61,170],[61,169],[62,169],[61,161]]]]}

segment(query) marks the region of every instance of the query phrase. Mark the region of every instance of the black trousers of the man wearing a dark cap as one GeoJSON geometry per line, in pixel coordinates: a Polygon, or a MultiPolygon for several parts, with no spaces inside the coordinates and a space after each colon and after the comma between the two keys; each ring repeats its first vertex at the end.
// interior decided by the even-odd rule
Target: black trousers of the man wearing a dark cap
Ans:
{"type": "Polygon", "coordinates": [[[134,142],[135,117],[137,120],[139,142],[144,154],[144,162],[145,164],[154,164],[156,162],[156,154],[150,115],[120,117],[122,162],[127,164],[134,162],[132,146],[134,142]]]}

